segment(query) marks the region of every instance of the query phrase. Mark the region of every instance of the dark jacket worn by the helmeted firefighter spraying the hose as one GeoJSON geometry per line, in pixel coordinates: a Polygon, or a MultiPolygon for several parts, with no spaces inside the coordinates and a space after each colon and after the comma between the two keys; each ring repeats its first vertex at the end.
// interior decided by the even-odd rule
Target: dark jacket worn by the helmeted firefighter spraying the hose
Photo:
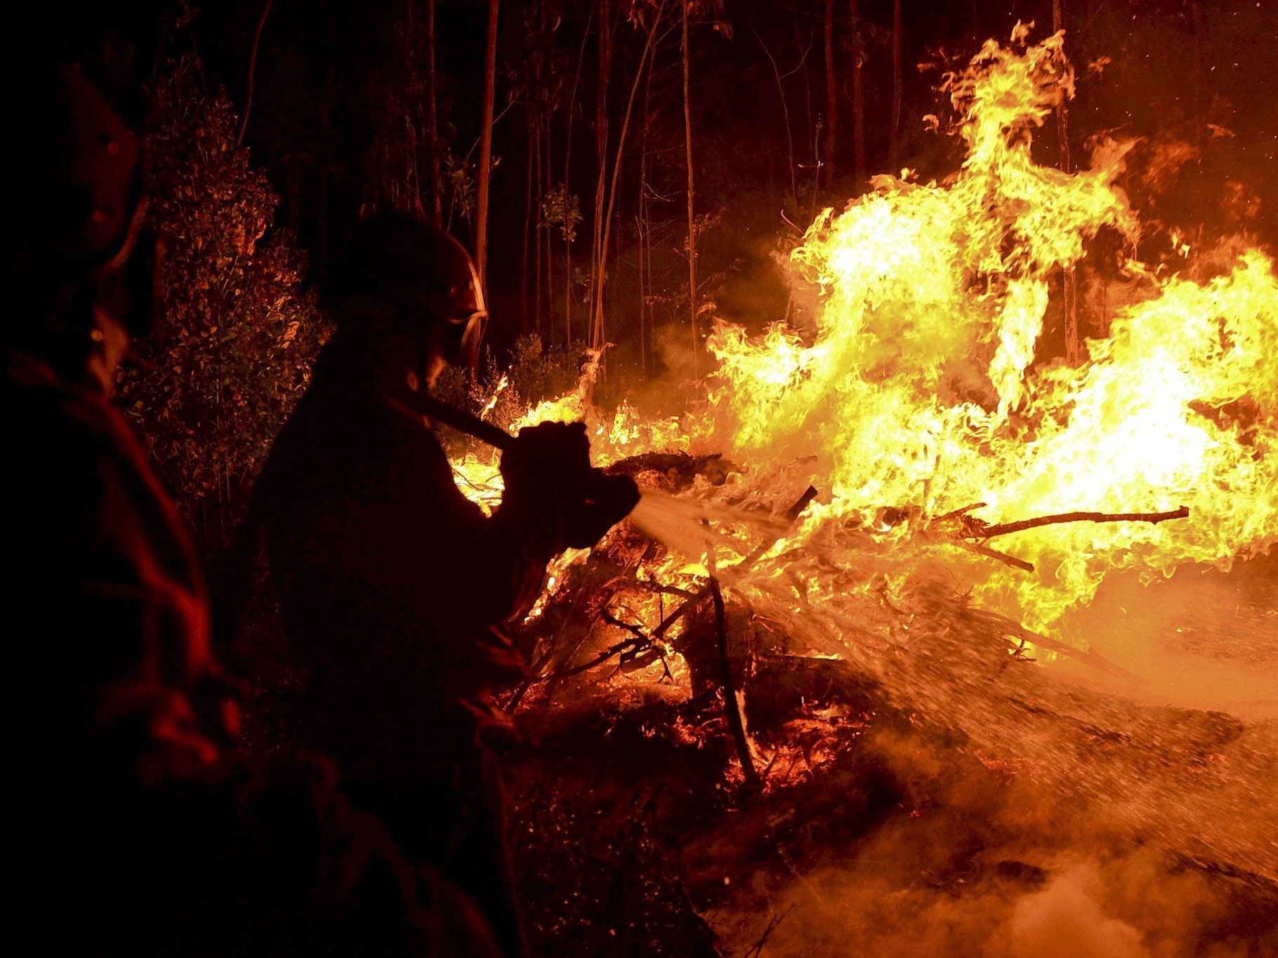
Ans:
{"type": "Polygon", "coordinates": [[[472,747],[488,694],[521,672],[502,626],[562,548],[557,517],[486,517],[427,423],[381,399],[336,342],[259,487],[314,741],[351,770],[472,747]]]}

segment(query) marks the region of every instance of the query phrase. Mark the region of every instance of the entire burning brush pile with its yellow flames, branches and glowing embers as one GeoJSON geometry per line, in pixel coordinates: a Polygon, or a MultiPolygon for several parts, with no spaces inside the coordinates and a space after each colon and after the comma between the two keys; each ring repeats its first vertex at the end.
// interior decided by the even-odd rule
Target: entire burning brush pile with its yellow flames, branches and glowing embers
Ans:
{"type": "MultiPolygon", "coordinates": [[[[592,367],[509,424],[585,418],[645,489],[553,570],[512,704],[663,696],[662,734],[716,737],[725,788],[762,802],[889,727],[1033,783],[1049,805],[1026,828],[1099,819],[1272,889],[1274,263],[1246,238],[1145,236],[1118,185],[1130,142],[1098,139],[1077,172],[1033,158],[1074,91],[1061,36],[990,41],[944,89],[961,167],[819,216],[791,255],[812,321],[720,326],[700,407],[601,416],[592,367]],[[1255,588],[1196,653],[1238,653],[1251,714],[1153,708],[1178,699],[1125,658],[1104,591],[1240,562],[1255,588]]],[[[487,459],[455,465],[500,497],[487,459]]]]}

